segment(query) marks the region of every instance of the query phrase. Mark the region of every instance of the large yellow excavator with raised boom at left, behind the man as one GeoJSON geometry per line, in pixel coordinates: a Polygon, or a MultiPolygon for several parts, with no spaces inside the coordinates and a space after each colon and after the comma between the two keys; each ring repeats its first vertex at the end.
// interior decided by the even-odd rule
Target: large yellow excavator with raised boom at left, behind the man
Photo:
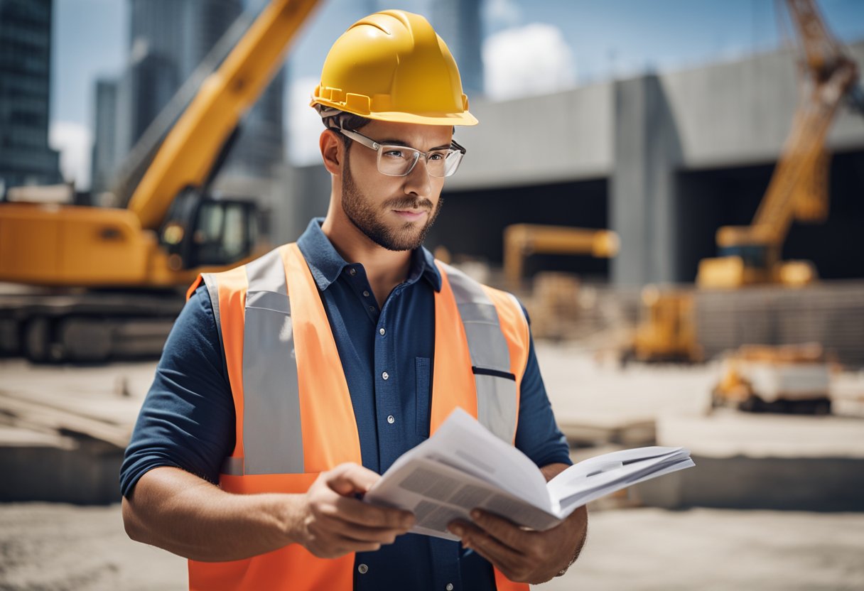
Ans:
{"type": "Polygon", "coordinates": [[[0,350],[102,359],[122,348],[118,339],[134,338],[124,324],[173,320],[177,305],[154,290],[170,290],[175,302],[175,289],[199,272],[262,250],[254,204],[214,200],[206,189],[239,119],[317,3],[271,0],[168,132],[127,208],[0,204],[0,282],[52,289],[0,303],[0,350]]]}

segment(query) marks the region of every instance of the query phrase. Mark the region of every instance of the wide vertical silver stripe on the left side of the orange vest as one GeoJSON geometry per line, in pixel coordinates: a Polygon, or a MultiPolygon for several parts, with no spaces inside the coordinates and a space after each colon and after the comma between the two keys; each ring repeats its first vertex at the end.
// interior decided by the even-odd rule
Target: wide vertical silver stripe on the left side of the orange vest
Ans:
{"type": "Polygon", "coordinates": [[[246,265],[243,333],[245,474],[303,472],[300,388],[279,251],[246,265]]]}

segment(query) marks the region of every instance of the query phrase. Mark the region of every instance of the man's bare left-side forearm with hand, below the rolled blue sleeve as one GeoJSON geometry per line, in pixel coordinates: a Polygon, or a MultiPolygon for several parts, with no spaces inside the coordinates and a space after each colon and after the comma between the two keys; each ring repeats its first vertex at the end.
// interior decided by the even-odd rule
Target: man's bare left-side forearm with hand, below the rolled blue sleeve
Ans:
{"type": "Polygon", "coordinates": [[[205,562],[241,560],[300,543],[315,556],[378,550],[414,516],[354,498],[380,478],[356,464],[321,473],[304,494],[232,494],[175,467],[145,473],[123,499],[127,534],[205,562]]]}

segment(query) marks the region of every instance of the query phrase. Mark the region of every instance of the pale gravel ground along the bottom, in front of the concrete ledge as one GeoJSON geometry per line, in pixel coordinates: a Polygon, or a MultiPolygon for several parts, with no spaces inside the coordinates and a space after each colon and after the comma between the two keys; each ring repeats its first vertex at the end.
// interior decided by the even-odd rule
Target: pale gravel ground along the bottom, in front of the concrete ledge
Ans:
{"type": "MultiPolygon", "coordinates": [[[[864,589],[861,556],[862,513],[603,511],[569,573],[537,589],[864,589]]],[[[0,589],[185,588],[185,561],[130,541],[119,505],[0,505],[0,589]]]]}

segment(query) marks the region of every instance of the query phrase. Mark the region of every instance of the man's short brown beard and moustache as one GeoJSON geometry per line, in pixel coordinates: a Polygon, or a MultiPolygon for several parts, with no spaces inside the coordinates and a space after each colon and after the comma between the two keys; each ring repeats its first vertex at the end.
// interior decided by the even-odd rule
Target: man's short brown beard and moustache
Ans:
{"type": "Polygon", "coordinates": [[[351,223],[363,232],[366,238],[388,251],[413,251],[419,248],[426,239],[426,234],[429,233],[435,218],[438,217],[438,213],[441,212],[444,205],[443,198],[439,197],[438,205],[433,207],[432,201],[425,197],[405,195],[384,201],[376,210],[354,182],[347,159],[345,164],[345,173],[342,175],[342,211],[351,223]],[[393,230],[381,218],[394,209],[425,209],[429,212],[429,219],[419,231],[416,229],[416,224],[411,222],[405,222],[401,228],[393,230]]]}

